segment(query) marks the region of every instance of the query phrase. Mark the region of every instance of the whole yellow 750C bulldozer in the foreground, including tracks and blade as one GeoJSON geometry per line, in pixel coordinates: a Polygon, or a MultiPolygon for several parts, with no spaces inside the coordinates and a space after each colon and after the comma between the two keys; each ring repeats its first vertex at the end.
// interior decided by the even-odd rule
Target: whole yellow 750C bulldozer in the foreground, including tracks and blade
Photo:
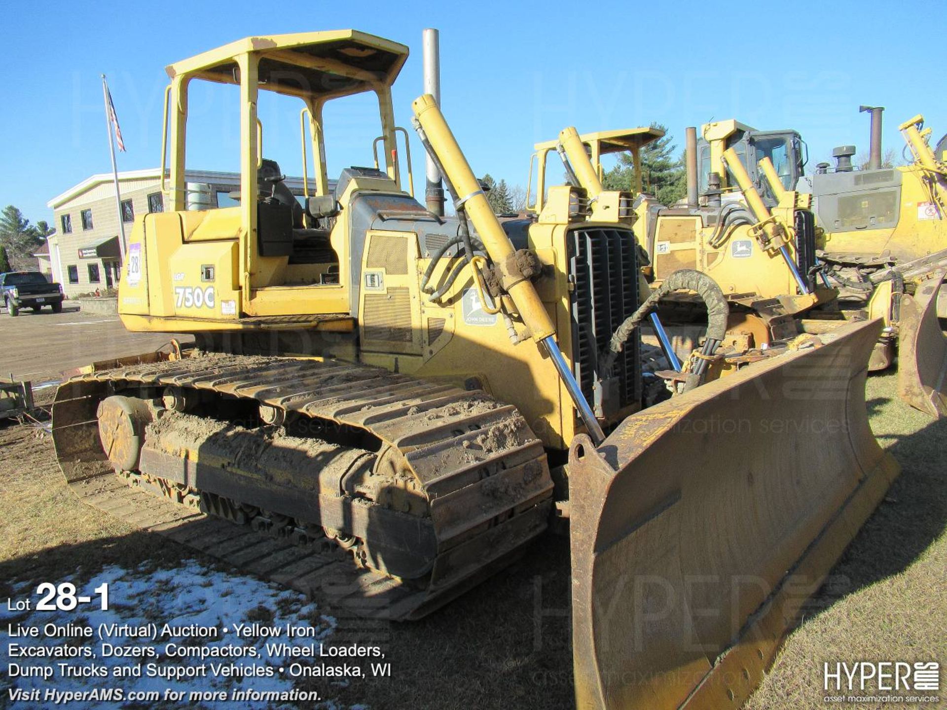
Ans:
{"type": "Polygon", "coordinates": [[[415,127],[456,215],[427,211],[402,189],[396,146],[407,53],[341,30],[170,65],[168,211],[136,218],[118,309],[129,329],[196,346],[63,382],[52,428],[68,485],[389,619],[527,553],[558,511],[578,706],[739,706],[898,472],[867,423],[881,322],[706,371],[642,409],[638,335],[616,339],[642,306],[634,232],[590,220],[570,186],[501,225],[425,95],[415,127]],[[196,81],[239,93],[238,206],[185,208],[196,81]],[[263,158],[270,92],[302,101],[305,207],[263,158]],[[384,159],[332,185],[323,107],[358,94],[377,98],[384,159]]]}

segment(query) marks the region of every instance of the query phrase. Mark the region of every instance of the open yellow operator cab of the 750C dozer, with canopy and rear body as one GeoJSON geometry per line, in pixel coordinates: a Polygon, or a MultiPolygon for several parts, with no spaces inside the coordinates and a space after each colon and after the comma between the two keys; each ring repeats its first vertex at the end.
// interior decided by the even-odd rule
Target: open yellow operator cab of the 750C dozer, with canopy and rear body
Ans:
{"type": "MultiPolygon", "coordinates": [[[[266,327],[268,320],[295,316],[288,328],[352,330],[357,284],[353,289],[350,270],[340,265],[361,261],[355,252],[364,240],[350,237],[347,207],[358,192],[407,197],[391,103],[391,85],[407,54],[402,44],[341,30],[251,37],[170,64],[162,153],[168,211],[134,225],[119,297],[126,327],[201,332],[266,327]],[[186,169],[198,167],[187,149],[188,94],[198,82],[230,84],[239,93],[241,148],[232,156],[240,160],[237,206],[186,209],[186,169]],[[282,97],[279,108],[290,106],[293,120],[298,115],[295,166],[266,153],[258,106],[272,100],[269,95],[282,97]],[[333,184],[324,110],[356,95],[377,100],[378,137],[374,143],[374,134],[366,137],[362,154],[377,156],[381,148],[384,158],[379,166],[376,157],[372,169],[344,170],[333,184]],[[300,167],[301,203],[284,183],[285,173],[300,167]]],[[[353,160],[332,149],[336,160],[353,160]]]]}

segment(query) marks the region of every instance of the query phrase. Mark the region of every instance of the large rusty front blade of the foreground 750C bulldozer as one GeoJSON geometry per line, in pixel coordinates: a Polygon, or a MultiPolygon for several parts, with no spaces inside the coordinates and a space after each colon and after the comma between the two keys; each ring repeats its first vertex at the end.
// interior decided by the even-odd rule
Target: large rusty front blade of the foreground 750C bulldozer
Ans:
{"type": "Polygon", "coordinates": [[[868,427],[880,320],[569,453],[577,705],[737,708],[898,474],[868,427]]]}

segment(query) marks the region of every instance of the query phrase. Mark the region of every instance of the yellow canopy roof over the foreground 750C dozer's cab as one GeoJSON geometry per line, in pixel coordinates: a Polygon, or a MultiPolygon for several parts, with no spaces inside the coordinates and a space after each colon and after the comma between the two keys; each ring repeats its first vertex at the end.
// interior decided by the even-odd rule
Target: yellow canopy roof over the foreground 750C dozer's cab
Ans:
{"type": "Polygon", "coordinates": [[[296,96],[346,96],[383,84],[402,70],[408,48],[355,29],[247,37],[166,67],[168,76],[239,83],[237,57],[259,56],[259,88],[296,96]]]}

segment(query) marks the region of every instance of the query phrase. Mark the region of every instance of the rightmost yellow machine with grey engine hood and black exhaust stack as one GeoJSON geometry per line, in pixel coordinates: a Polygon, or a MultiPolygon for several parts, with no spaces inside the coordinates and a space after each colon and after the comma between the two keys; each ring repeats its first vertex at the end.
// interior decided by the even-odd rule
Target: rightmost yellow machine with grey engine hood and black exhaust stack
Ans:
{"type": "Polygon", "coordinates": [[[937,318],[947,313],[947,293],[940,289],[947,270],[945,141],[938,155],[923,116],[913,116],[898,127],[913,162],[883,168],[884,109],[862,110],[871,114],[867,168],[853,170],[854,147],[840,147],[833,172],[823,164],[805,179],[824,230],[819,257],[846,299],[867,302],[869,313],[884,318],[870,368],[889,366],[897,349],[902,399],[947,416],[947,340],[937,318]]]}

